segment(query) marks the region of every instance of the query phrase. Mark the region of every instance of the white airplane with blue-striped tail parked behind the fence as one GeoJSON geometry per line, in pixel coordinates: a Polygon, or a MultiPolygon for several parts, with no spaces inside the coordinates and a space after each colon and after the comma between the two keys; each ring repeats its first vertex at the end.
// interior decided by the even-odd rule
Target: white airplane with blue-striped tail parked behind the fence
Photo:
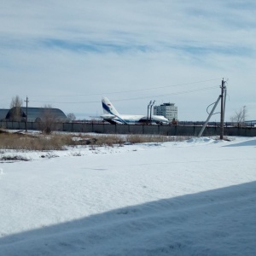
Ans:
{"type": "MultiPolygon", "coordinates": [[[[102,98],[103,113],[101,118],[110,124],[134,125],[150,122],[150,117],[145,115],[119,114],[107,97],[102,98]]],[[[169,124],[169,120],[162,115],[152,115],[151,122],[155,124],[169,124]]]]}

